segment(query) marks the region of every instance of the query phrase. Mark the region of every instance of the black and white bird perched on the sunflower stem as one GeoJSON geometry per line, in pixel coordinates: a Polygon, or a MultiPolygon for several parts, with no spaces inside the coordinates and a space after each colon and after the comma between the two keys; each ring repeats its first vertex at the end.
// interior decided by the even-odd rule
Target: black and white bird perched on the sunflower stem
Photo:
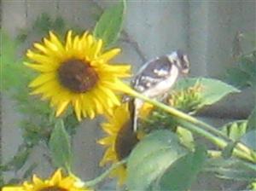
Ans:
{"type": "MultiPolygon", "coordinates": [[[[188,56],[183,51],[176,50],[170,55],[146,62],[131,81],[131,87],[149,98],[163,96],[172,88],[180,74],[188,72],[188,56]]],[[[137,118],[143,101],[136,98],[130,105],[133,130],[137,131],[137,118]]]]}

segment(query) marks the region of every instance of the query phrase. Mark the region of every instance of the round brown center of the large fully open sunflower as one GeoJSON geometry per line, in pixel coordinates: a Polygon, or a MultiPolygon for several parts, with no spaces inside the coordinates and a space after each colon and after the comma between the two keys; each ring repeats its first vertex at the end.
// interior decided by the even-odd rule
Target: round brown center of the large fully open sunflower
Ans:
{"type": "Polygon", "coordinates": [[[75,59],[63,62],[58,73],[61,84],[77,93],[91,90],[98,81],[98,75],[89,63],[75,59]]]}

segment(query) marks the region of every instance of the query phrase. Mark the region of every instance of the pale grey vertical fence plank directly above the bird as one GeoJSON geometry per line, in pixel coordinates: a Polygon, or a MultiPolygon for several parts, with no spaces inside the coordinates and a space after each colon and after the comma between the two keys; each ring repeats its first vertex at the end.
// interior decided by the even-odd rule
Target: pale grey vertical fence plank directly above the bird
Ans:
{"type": "Polygon", "coordinates": [[[131,1],[127,4],[125,31],[137,41],[148,59],[175,49],[187,49],[187,3],[131,1]]]}

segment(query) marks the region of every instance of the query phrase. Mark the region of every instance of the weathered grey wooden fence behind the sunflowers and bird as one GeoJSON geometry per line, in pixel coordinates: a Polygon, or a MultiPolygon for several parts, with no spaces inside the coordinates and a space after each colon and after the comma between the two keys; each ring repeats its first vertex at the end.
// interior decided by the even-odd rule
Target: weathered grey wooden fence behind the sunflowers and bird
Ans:
{"type": "MultiPolygon", "coordinates": [[[[132,63],[134,71],[143,61],[156,55],[170,53],[173,49],[184,49],[191,61],[191,76],[223,76],[224,67],[230,64],[236,32],[255,32],[255,1],[127,2],[124,32],[119,40],[123,54],[117,61],[132,63]]],[[[31,26],[39,14],[46,12],[53,17],[60,14],[68,22],[84,29],[92,28],[95,20],[91,15],[113,3],[100,0],[3,0],[2,25],[14,37],[18,29],[31,26]]],[[[251,109],[253,98],[250,91],[244,93],[244,96],[247,99],[238,103],[238,111],[251,109]]],[[[240,97],[235,100],[240,100],[240,97]]],[[[2,155],[3,161],[6,161],[15,153],[22,138],[17,126],[20,113],[15,113],[15,105],[8,97],[3,96],[2,104],[2,155]]],[[[223,105],[231,106],[229,100],[220,104],[220,107],[223,105]]],[[[100,119],[84,122],[74,138],[75,171],[84,179],[96,177],[101,171],[97,164],[102,149],[96,146],[96,139],[101,136],[99,123],[100,119]]],[[[44,147],[38,147],[31,160],[42,162],[37,171],[47,175],[51,167],[42,157],[44,152],[47,152],[44,147]]]]}

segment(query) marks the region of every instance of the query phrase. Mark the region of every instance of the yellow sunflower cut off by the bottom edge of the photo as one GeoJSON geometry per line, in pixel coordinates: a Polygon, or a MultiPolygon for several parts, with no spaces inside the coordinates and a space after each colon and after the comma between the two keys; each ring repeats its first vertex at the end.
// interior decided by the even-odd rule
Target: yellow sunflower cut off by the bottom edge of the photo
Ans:
{"type": "Polygon", "coordinates": [[[32,177],[32,182],[24,182],[21,186],[4,187],[3,191],[90,191],[83,187],[83,182],[78,177],[69,175],[64,177],[61,169],[55,171],[49,179],[42,180],[36,175],[32,177]]]}

